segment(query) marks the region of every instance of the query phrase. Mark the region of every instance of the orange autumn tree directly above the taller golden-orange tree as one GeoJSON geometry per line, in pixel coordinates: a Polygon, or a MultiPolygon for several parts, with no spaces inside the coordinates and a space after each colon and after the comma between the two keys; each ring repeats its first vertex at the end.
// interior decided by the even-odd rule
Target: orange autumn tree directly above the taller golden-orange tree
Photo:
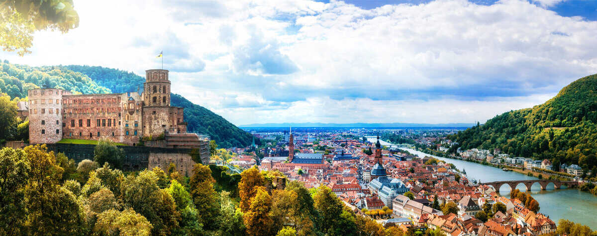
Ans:
{"type": "Polygon", "coordinates": [[[257,194],[258,186],[265,186],[265,179],[259,173],[257,167],[242,171],[241,182],[238,183],[238,192],[241,197],[240,207],[242,212],[247,212],[251,204],[251,198],[257,194]]]}

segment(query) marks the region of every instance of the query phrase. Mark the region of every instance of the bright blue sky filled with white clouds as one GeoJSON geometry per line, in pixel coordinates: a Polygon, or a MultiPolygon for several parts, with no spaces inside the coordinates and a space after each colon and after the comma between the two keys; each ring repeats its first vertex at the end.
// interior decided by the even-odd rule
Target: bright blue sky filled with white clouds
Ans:
{"type": "Polygon", "coordinates": [[[597,1],[74,1],[11,63],[170,71],[236,125],[450,123],[540,105],[597,73],[597,1]]]}

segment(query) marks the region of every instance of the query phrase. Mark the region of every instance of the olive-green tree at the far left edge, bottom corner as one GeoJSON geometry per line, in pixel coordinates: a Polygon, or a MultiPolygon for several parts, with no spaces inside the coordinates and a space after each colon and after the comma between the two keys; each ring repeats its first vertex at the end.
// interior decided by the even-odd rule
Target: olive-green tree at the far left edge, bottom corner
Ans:
{"type": "Polygon", "coordinates": [[[0,234],[25,234],[24,187],[29,179],[29,161],[22,149],[0,150],[0,234]]]}

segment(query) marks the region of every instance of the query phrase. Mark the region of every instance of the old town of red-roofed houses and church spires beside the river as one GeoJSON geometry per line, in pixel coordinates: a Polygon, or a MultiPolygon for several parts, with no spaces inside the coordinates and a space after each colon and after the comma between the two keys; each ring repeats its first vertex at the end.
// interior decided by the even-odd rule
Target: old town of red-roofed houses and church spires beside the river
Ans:
{"type": "MultiPolygon", "coordinates": [[[[476,183],[453,164],[420,158],[396,145],[381,145],[388,143],[371,134],[373,131],[364,130],[260,131],[254,135],[264,139],[265,146],[221,150],[227,154],[214,155],[211,161],[237,172],[255,165],[260,170],[280,171],[306,188],[328,186],[356,214],[404,231],[429,228],[446,235],[556,231],[555,222],[538,212],[538,204],[525,203],[527,197],[502,197],[492,186],[476,183]]],[[[417,145],[426,140],[418,140],[417,145]]],[[[478,154],[466,151],[462,155],[469,152],[478,154]]]]}

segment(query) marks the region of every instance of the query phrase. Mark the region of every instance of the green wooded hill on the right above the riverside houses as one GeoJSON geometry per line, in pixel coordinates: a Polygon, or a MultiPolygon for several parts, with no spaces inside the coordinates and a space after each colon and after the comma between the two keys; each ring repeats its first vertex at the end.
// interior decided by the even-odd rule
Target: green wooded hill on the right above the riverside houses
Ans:
{"type": "Polygon", "coordinates": [[[533,108],[506,112],[460,131],[452,140],[462,149],[500,148],[510,155],[578,164],[597,173],[597,74],[562,88],[533,108]]]}

